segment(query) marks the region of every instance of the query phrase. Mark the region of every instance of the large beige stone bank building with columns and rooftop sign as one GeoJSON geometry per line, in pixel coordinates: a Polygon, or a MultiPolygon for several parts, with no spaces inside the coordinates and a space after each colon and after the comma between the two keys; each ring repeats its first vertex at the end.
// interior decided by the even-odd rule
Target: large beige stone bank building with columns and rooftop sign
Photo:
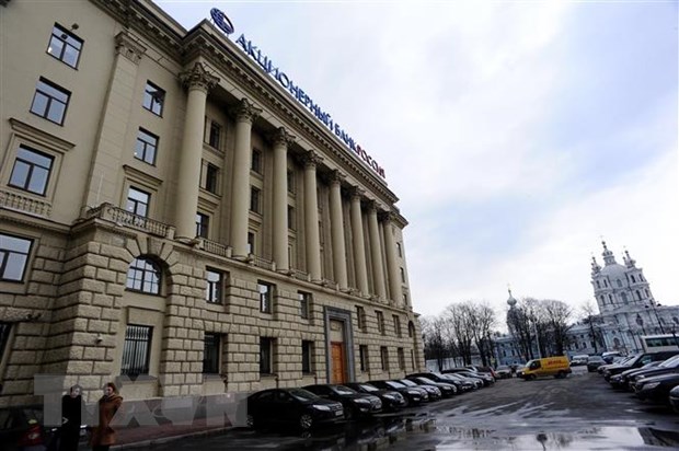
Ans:
{"type": "Polygon", "coordinates": [[[0,405],[424,367],[384,171],[212,18],[0,1],[0,405]]]}

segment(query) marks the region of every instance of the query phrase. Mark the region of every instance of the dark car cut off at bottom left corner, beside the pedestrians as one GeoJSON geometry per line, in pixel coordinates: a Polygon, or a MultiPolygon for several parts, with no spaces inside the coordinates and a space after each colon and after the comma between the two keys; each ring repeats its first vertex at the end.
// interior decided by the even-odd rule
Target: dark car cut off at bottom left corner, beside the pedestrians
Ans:
{"type": "Polygon", "coordinates": [[[43,406],[22,405],[0,408],[0,443],[7,451],[41,449],[51,440],[43,427],[43,406]]]}

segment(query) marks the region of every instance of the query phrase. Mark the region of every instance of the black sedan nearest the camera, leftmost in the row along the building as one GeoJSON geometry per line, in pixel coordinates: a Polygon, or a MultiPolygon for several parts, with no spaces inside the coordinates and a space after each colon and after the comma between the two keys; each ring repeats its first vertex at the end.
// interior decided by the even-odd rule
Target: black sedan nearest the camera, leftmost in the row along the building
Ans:
{"type": "Polygon", "coordinates": [[[271,389],[248,396],[248,426],[292,423],[300,429],[311,429],[321,423],[344,418],[342,403],[324,400],[307,390],[271,389]]]}

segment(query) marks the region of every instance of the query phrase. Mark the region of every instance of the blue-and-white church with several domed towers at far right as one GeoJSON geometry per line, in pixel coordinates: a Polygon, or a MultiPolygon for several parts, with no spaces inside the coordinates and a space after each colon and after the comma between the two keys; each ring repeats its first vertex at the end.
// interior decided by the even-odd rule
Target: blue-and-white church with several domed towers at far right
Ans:
{"type": "Polygon", "coordinates": [[[623,265],[615,262],[615,256],[602,241],[603,267],[591,257],[591,286],[601,314],[612,313],[620,308],[654,307],[655,300],[642,268],[624,252],[623,265]]]}

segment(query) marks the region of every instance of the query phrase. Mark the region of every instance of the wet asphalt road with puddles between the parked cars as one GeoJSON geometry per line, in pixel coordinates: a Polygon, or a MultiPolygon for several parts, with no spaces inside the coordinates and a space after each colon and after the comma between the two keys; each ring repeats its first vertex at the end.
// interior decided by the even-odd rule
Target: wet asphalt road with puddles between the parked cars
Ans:
{"type": "Polygon", "coordinates": [[[300,435],[234,428],[153,450],[643,450],[679,448],[679,414],[617,392],[582,367],[566,379],[502,380],[449,400],[300,435]]]}

